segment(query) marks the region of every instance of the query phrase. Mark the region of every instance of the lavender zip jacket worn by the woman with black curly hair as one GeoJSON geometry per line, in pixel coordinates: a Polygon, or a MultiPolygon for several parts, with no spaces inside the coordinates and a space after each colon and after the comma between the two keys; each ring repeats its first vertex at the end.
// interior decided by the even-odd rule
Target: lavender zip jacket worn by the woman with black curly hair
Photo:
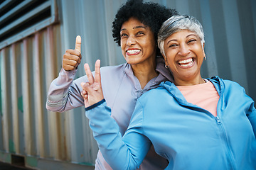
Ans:
{"type": "MultiPolygon", "coordinates": [[[[169,69],[164,67],[164,59],[162,57],[156,57],[156,71],[159,72],[158,77],[151,79],[142,89],[139,80],[132,72],[130,64],[125,63],[100,69],[103,94],[107,101],[107,106],[111,108],[111,116],[119,125],[119,131],[122,135],[127,130],[137,98],[146,91],[159,86],[162,81],[173,81],[169,69]]],[[[50,84],[46,102],[48,111],[63,112],[84,106],[83,98],[80,95],[82,90],[80,83],[87,82],[87,77],[85,75],[75,79],[75,73],[76,70],[66,72],[61,69],[59,76],[50,84]]],[[[152,147],[142,162],[140,169],[164,169],[167,165],[166,159],[157,155],[152,147]]],[[[95,169],[111,169],[100,151],[95,161],[95,169]]]]}

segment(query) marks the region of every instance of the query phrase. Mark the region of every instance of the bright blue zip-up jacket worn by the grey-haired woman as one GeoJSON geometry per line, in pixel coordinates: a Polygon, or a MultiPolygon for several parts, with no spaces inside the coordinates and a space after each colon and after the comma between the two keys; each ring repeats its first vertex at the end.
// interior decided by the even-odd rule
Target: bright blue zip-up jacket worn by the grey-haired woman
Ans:
{"type": "Polygon", "coordinates": [[[124,137],[105,101],[86,108],[95,140],[113,169],[137,169],[151,144],[166,169],[256,169],[254,101],[233,81],[209,79],[217,116],[188,103],[169,81],[142,95],[124,137]]]}

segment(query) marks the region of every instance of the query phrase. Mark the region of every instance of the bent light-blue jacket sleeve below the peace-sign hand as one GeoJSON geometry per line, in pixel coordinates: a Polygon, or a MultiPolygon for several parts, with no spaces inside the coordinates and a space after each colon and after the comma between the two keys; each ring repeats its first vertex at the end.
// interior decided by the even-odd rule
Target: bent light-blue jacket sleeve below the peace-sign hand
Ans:
{"type": "Polygon", "coordinates": [[[142,134],[142,108],[139,104],[135,107],[124,137],[110,113],[105,101],[86,109],[97,145],[112,169],[138,169],[151,147],[150,140],[142,134]]]}

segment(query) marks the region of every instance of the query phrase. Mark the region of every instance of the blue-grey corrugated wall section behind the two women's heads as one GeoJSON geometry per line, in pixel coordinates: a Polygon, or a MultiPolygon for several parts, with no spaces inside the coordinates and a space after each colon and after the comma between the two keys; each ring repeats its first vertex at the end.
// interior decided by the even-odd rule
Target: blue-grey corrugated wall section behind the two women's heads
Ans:
{"type": "MultiPolygon", "coordinates": [[[[218,76],[237,81],[256,100],[256,1],[255,0],[146,0],[181,14],[195,16],[205,32],[206,62],[203,77],[218,76]]],[[[82,37],[82,64],[94,67],[125,62],[120,47],[112,38],[112,21],[125,0],[62,2],[60,16],[65,35],[64,49],[75,48],[75,36],[82,37]],[[75,9],[75,10],[73,10],[75,9]]],[[[65,52],[65,50],[63,50],[65,52]]],[[[84,75],[78,67],[77,76],[84,75]]]]}

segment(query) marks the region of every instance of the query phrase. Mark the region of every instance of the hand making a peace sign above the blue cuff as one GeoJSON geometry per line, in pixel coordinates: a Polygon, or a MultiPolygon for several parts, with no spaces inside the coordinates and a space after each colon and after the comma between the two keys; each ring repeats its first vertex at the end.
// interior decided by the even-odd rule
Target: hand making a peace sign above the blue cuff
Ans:
{"type": "Polygon", "coordinates": [[[95,77],[92,76],[90,67],[87,63],[84,65],[85,73],[88,78],[88,82],[82,82],[82,92],[81,95],[85,100],[85,107],[92,106],[93,104],[101,101],[104,96],[101,86],[101,77],[100,77],[100,60],[95,62],[95,77]]]}

